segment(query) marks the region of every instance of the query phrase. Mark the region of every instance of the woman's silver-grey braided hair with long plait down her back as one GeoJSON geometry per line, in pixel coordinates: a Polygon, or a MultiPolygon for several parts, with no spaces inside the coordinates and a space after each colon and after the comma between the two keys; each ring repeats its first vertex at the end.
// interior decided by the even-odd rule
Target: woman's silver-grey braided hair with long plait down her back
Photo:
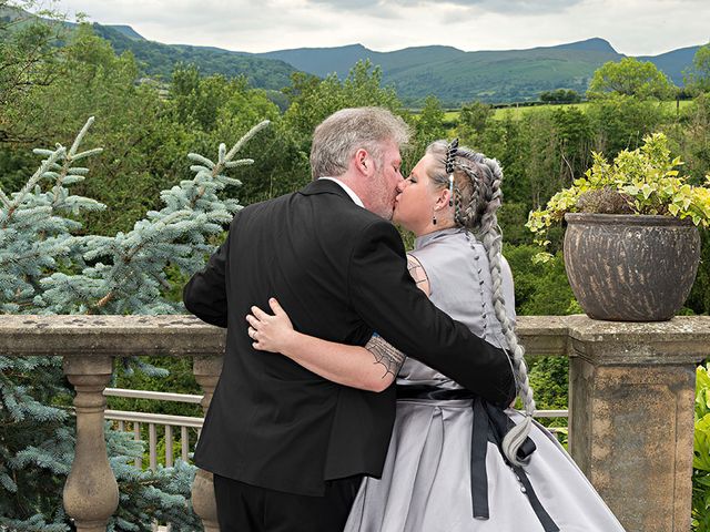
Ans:
{"type": "Polygon", "coordinates": [[[453,170],[454,222],[458,227],[465,228],[467,233],[473,233],[483,243],[488,256],[493,282],[493,306],[508,344],[516,391],[523,400],[526,413],[524,420],[510,429],[503,439],[503,451],[510,462],[520,464],[517,451],[530,432],[535,399],[525,364],[525,349],[518,341],[515,325],[506,314],[503,295],[503,275],[500,273],[503,244],[497,216],[503,200],[500,190],[503,171],[498,161],[487,158],[481,153],[463,146],[455,146],[455,151],[452,153],[449,147],[450,144],[447,144],[446,141],[434,142],[427,147],[426,153],[440,161],[440,165],[437,165],[428,177],[436,185],[448,186],[450,173],[447,174],[446,171],[453,170]]]}

